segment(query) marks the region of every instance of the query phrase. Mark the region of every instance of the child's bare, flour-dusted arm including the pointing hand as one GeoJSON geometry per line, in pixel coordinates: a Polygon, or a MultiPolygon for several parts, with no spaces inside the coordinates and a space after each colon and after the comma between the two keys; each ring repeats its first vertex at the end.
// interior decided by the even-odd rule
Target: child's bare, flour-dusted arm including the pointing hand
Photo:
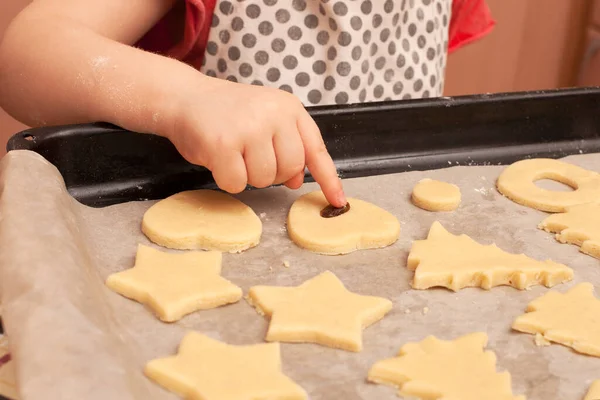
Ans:
{"type": "Polygon", "coordinates": [[[106,121],[168,137],[224,190],[299,187],[345,205],[319,129],[286,92],[202,75],[135,43],[175,0],[36,0],[0,45],[0,105],[31,126],[106,121]]]}

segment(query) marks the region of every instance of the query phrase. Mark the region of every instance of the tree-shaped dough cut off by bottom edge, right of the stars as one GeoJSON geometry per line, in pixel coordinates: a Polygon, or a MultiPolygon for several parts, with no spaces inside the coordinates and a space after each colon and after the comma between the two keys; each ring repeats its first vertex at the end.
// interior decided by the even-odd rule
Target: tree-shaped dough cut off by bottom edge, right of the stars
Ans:
{"type": "Polygon", "coordinates": [[[452,341],[429,336],[405,344],[397,357],[375,363],[368,380],[423,400],[525,400],[512,394],[508,372],[496,372],[496,355],[484,351],[486,344],[485,333],[452,341]]]}

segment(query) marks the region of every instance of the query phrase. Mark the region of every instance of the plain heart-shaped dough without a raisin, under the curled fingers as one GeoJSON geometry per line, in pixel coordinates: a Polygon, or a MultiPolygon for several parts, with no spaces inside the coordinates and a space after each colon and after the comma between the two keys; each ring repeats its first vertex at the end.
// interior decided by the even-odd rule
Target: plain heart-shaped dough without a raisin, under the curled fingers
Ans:
{"type": "Polygon", "coordinates": [[[260,241],[262,222],[250,207],[214,190],[190,190],[146,211],[142,232],[159,246],[239,253],[260,241]]]}

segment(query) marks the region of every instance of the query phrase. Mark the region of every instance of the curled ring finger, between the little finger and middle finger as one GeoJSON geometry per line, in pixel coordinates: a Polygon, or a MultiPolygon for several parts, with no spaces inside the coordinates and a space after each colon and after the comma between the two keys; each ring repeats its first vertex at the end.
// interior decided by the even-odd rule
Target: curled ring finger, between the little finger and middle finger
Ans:
{"type": "Polygon", "coordinates": [[[270,186],[277,174],[277,160],[271,141],[253,142],[244,149],[248,183],[257,188],[270,186]]]}

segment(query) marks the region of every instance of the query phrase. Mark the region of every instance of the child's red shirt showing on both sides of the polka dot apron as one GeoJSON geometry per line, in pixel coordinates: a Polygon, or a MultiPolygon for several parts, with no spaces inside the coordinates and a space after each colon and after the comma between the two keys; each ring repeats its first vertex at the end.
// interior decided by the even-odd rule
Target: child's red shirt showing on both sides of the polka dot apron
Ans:
{"type": "MultiPolygon", "coordinates": [[[[217,0],[178,3],[137,46],[200,69],[217,0]],[[183,32],[182,32],[183,25],[183,32]]],[[[495,25],[485,0],[453,0],[448,52],[487,35],[495,25]]]]}

